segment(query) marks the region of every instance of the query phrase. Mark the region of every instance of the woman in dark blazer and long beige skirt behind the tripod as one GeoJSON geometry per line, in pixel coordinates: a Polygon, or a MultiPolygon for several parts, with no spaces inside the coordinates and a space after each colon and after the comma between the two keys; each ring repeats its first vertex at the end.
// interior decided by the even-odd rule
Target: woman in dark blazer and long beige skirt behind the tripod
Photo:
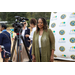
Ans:
{"type": "MultiPolygon", "coordinates": [[[[26,44],[27,48],[29,48],[29,46],[30,46],[29,40],[30,39],[29,39],[29,37],[26,38],[25,35],[30,35],[30,29],[27,28],[27,22],[25,20],[23,20],[23,24],[24,24],[24,27],[23,27],[23,31],[22,31],[22,36],[24,38],[24,41],[25,41],[25,44],[26,44]]],[[[25,49],[22,41],[21,41],[21,43],[22,43],[22,53],[21,53],[22,61],[28,61],[28,55],[26,53],[26,49],[25,49]]]]}

